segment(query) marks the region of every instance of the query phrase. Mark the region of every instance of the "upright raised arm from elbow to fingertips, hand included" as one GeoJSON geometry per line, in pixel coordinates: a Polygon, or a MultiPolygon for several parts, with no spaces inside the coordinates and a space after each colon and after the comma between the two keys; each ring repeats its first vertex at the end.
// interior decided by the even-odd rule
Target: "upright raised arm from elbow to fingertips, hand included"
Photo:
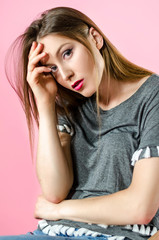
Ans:
{"type": "Polygon", "coordinates": [[[43,74],[50,70],[37,65],[40,60],[48,57],[42,50],[42,44],[33,43],[27,74],[27,81],[36,98],[39,112],[36,169],[42,194],[48,201],[58,203],[67,197],[73,183],[70,135],[57,132],[57,86],[51,75],[43,74]]]}

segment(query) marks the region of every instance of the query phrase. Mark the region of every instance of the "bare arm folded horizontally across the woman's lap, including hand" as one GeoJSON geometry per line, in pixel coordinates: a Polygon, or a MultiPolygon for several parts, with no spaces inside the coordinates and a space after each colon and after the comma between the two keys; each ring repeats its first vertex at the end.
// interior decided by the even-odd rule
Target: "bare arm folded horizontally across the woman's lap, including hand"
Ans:
{"type": "Polygon", "coordinates": [[[159,208],[159,157],[136,162],[127,189],[99,197],[64,200],[53,204],[39,197],[35,217],[47,220],[105,224],[147,224],[159,208]]]}

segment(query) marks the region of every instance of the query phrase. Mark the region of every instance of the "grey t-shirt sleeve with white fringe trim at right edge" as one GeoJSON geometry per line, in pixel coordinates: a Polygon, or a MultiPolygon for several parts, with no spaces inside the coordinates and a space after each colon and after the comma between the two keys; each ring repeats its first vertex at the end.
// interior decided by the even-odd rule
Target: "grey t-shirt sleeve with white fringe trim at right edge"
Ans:
{"type": "Polygon", "coordinates": [[[140,144],[131,159],[133,166],[140,159],[159,157],[159,89],[145,104],[140,129],[140,144]]]}

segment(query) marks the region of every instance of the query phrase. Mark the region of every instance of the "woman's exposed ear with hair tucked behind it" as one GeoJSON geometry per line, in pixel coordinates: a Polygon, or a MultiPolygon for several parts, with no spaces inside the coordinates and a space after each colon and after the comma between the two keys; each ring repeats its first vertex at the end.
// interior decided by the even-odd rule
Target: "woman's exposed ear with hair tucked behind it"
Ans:
{"type": "Polygon", "coordinates": [[[89,29],[89,37],[96,44],[98,50],[103,47],[103,37],[93,27],[89,29]]]}

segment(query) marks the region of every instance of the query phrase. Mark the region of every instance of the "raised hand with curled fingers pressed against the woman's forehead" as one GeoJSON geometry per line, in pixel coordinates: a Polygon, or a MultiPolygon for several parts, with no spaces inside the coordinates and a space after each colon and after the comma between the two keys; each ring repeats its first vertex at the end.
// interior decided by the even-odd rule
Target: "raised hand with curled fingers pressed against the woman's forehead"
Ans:
{"type": "Polygon", "coordinates": [[[39,62],[45,63],[49,55],[43,52],[44,45],[33,42],[28,56],[27,81],[34,93],[37,104],[44,105],[55,102],[57,84],[52,77],[51,68],[39,66],[39,62]]]}

